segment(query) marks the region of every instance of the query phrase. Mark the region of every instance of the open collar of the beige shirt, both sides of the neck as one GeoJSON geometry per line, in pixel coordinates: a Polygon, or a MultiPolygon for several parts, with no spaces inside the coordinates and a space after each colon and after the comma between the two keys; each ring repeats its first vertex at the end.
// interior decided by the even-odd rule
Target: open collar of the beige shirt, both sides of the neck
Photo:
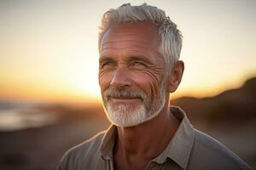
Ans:
{"type": "MultiPolygon", "coordinates": [[[[194,128],[182,109],[177,106],[172,106],[170,107],[170,111],[177,119],[181,120],[181,123],[177,128],[177,132],[172,137],[172,140],[167,145],[166,150],[164,150],[160,156],[155,157],[153,161],[161,164],[164,163],[167,158],[170,158],[177,162],[180,167],[186,169],[195,139],[194,128]]],[[[102,138],[101,153],[102,158],[105,160],[113,159],[113,145],[116,135],[117,127],[111,125],[102,138]]]]}

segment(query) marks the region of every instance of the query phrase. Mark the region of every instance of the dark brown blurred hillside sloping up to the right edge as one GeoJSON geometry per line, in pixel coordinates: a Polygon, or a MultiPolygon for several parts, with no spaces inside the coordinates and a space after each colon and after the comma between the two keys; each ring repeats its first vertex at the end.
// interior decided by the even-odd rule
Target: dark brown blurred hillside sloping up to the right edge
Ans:
{"type": "Polygon", "coordinates": [[[248,79],[241,88],[230,89],[211,98],[183,97],[171,101],[186,111],[191,122],[214,124],[244,124],[256,121],[256,77],[248,79]]]}

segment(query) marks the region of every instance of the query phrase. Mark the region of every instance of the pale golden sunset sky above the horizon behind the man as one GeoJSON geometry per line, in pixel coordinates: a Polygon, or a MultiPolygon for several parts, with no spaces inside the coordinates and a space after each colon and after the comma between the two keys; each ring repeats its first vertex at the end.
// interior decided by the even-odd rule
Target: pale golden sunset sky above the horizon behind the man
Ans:
{"type": "MultiPolygon", "coordinates": [[[[0,100],[100,99],[97,31],[127,1],[0,1],[0,100]],[[107,3],[108,2],[108,3],[107,3]]],[[[212,96],[256,76],[256,1],[129,1],[166,11],[183,32],[173,97],[212,96]]]]}

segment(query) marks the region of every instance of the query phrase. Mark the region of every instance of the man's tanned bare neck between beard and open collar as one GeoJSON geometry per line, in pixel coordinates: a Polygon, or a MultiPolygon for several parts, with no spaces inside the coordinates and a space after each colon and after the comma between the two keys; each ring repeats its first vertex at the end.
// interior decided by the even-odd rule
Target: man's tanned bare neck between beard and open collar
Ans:
{"type": "Polygon", "coordinates": [[[168,105],[154,119],[135,127],[118,127],[114,154],[131,158],[152,160],[166,149],[177,131],[179,122],[170,114],[168,105]]]}

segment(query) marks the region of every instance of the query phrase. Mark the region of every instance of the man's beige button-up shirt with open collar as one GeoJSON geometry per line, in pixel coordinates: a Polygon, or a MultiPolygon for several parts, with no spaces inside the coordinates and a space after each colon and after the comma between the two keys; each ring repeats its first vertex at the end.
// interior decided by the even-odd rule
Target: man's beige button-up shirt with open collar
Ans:
{"type": "MultiPolygon", "coordinates": [[[[178,107],[171,107],[171,113],[181,120],[177,132],[166,149],[148,163],[149,169],[251,169],[231,150],[196,130],[185,113],[178,107]]],[[[101,169],[113,170],[113,145],[117,127],[68,150],[62,157],[59,170],[101,169]]]]}

